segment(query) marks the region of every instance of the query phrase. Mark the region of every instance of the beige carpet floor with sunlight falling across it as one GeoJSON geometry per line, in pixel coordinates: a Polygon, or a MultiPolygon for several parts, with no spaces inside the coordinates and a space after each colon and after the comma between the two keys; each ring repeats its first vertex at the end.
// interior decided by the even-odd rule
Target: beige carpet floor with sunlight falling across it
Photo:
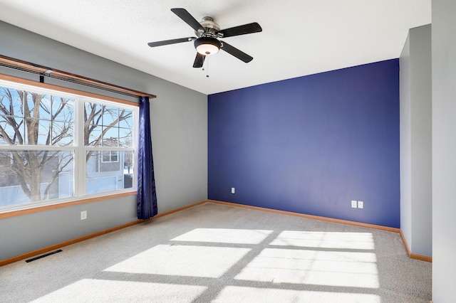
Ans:
{"type": "Polygon", "coordinates": [[[429,302],[398,233],[205,203],[0,267],[0,302],[429,302]]]}

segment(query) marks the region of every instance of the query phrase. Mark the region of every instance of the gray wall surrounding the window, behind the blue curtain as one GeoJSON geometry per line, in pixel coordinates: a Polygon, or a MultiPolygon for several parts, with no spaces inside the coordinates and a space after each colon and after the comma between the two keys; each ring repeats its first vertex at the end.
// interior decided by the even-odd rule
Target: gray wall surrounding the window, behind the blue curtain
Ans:
{"type": "MultiPolygon", "coordinates": [[[[158,211],[207,199],[206,95],[1,21],[0,41],[1,55],[157,95],[150,107],[158,211]]],[[[8,68],[0,73],[38,79],[8,68]]],[[[58,80],[45,82],[119,97],[58,80]]],[[[135,203],[135,196],[128,196],[1,219],[0,260],[129,223],[136,220],[135,203]],[[83,210],[88,219],[81,221],[83,210]]]]}

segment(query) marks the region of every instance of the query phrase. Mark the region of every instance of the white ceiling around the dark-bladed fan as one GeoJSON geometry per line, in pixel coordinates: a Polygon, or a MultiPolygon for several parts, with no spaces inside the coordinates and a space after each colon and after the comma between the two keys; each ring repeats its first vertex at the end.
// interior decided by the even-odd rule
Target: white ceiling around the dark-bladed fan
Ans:
{"type": "Polygon", "coordinates": [[[0,20],[212,94],[398,58],[408,28],[431,22],[431,0],[0,0],[0,20]],[[150,48],[195,36],[172,8],[221,28],[258,22],[261,33],[224,39],[254,60],[221,51],[202,71],[192,42],[150,48]]]}

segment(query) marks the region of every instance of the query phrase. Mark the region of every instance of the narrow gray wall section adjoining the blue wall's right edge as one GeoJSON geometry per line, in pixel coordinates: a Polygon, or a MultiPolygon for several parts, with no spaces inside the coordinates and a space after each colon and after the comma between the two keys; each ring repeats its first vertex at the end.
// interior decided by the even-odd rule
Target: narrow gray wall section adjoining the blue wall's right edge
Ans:
{"type": "Polygon", "coordinates": [[[411,28],[400,55],[400,229],[432,256],[431,26],[411,28]]]}

